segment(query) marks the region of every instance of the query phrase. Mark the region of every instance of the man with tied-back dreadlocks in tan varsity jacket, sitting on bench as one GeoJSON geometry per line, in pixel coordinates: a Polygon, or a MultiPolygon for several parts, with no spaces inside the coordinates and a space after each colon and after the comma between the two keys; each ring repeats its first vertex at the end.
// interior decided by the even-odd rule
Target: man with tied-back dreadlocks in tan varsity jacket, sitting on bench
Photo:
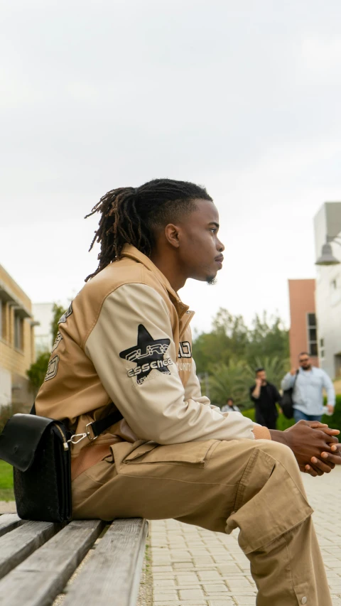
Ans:
{"type": "Polygon", "coordinates": [[[175,518],[230,533],[251,563],[259,606],[331,606],[300,470],[340,465],[335,435],[300,421],[268,430],[201,395],[188,278],[213,283],[224,245],[212,198],[156,179],[108,192],[94,240],[99,265],[60,318],[42,416],[67,419],[73,517],[175,518]],[[87,424],[119,411],[98,439],[87,424]]]}

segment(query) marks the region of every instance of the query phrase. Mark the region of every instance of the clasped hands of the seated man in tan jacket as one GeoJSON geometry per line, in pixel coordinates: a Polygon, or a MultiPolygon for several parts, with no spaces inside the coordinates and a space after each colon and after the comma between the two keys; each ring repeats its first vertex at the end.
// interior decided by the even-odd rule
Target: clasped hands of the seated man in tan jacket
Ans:
{"type": "Polygon", "coordinates": [[[273,440],[291,448],[300,470],[313,477],[341,465],[341,444],[336,437],[340,431],[330,429],[325,423],[298,421],[285,431],[271,430],[270,433],[273,440]]]}

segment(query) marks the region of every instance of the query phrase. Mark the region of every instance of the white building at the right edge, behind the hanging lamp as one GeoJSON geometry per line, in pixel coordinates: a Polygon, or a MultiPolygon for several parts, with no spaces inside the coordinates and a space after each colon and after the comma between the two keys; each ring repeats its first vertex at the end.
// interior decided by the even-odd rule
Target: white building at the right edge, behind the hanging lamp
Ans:
{"type": "Polygon", "coordinates": [[[320,367],[334,379],[341,376],[341,202],[325,202],[314,218],[315,254],[328,242],[339,264],[317,266],[316,315],[320,367]]]}

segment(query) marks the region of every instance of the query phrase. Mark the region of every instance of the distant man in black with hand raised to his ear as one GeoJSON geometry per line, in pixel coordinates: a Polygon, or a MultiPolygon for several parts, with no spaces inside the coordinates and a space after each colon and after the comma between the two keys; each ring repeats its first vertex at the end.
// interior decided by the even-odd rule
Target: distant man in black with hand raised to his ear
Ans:
{"type": "Polygon", "coordinates": [[[250,387],[250,398],[256,408],[256,423],[276,429],[276,403],[281,405],[281,396],[276,386],[267,381],[264,368],[256,369],[256,383],[250,387]]]}

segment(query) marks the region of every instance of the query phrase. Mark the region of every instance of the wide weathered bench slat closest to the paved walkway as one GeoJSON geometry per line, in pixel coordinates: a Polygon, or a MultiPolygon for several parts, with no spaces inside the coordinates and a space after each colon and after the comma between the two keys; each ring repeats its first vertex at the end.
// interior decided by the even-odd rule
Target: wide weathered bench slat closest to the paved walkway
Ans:
{"type": "Polygon", "coordinates": [[[135,606],[147,532],[144,519],[115,520],[70,585],[63,606],[135,606]]]}

